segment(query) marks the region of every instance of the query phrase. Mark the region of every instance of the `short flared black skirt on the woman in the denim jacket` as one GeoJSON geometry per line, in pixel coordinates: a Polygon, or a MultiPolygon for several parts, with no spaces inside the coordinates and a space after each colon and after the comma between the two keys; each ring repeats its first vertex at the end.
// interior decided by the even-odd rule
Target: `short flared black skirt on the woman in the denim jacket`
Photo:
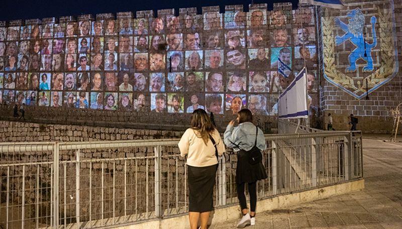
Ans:
{"type": "Polygon", "coordinates": [[[267,172],[262,162],[250,164],[247,151],[240,150],[237,152],[236,183],[252,183],[267,177],[267,172]]]}

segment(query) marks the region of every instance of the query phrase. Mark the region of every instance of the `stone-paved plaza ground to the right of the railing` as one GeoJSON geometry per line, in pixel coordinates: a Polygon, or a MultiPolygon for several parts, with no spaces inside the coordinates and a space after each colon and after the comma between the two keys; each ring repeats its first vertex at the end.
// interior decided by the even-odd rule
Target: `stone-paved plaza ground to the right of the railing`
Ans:
{"type": "MultiPolygon", "coordinates": [[[[246,228],[402,228],[402,138],[363,135],[365,189],[266,212],[246,228]]],[[[258,211],[258,205],[257,205],[258,211]]],[[[210,228],[235,228],[237,220],[210,228]]]]}

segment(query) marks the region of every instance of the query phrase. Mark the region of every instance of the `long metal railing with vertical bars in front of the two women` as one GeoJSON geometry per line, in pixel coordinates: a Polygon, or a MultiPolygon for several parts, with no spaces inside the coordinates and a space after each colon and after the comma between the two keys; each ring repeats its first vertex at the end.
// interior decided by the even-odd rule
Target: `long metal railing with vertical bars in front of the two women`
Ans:
{"type": "MultiPolygon", "coordinates": [[[[258,198],[360,179],[360,132],[265,135],[258,198]]],[[[94,228],[188,210],[178,139],[0,143],[0,227],[94,228]]],[[[214,203],[238,204],[234,153],[219,162],[214,203]]]]}

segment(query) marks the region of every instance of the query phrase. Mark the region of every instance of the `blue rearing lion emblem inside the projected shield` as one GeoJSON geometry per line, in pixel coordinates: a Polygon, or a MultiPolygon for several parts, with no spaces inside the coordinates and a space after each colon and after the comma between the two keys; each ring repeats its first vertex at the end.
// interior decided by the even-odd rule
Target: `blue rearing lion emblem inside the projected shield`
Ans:
{"type": "Polygon", "coordinates": [[[360,9],[355,9],[350,11],[347,14],[349,18],[349,24],[346,25],[339,18],[335,18],[335,24],[338,25],[343,31],[345,31],[345,35],[342,37],[335,37],[335,45],[339,46],[342,43],[350,40],[353,45],[356,46],[356,49],[349,54],[349,67],[346,68],[346,72],[354,72],[356,71],[356,61],[360,58],[363,59],[367,65],[363,67],[363,72],[371,72],[373,71],[373,58],[371,57],[371,49],[377,46],[377,37],[375,35],[375,23],[376,18],[371,17],[371,30],[373,32],[373,43],[368,44],[365,42],[363,37],[363,28],[364,28],[364,15],[361,13],[360,9]]]}

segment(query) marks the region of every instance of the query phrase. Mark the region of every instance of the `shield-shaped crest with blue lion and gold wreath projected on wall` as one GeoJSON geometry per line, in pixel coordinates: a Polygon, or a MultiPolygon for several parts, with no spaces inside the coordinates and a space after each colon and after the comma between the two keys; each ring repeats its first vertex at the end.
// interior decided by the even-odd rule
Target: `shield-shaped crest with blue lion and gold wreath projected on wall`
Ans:
{"type": "Polygon", "coordinates": [[[356,99],[389,82],[398,69],[393,1],[372,6],[322,12],[324,77],[356,99]]]}

